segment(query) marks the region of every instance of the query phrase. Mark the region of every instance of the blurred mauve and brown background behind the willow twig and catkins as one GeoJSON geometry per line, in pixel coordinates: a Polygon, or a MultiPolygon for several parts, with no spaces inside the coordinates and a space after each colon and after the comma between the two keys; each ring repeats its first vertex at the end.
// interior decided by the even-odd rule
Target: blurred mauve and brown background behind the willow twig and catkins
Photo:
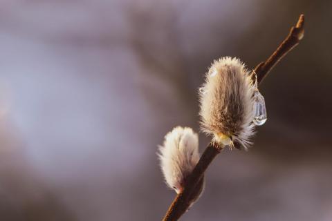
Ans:
{"type": "MultiPolygon", "coordinates": [[[[161,220],[175,196],[156,152],[199,131],[213,59],[264,61],[250,151],[223,151],[181,220],[332,220],[332,1],[0,1],[0,220],[161,220]]],[[[200,134],[200,151],[208,144],[200,134]]]]}

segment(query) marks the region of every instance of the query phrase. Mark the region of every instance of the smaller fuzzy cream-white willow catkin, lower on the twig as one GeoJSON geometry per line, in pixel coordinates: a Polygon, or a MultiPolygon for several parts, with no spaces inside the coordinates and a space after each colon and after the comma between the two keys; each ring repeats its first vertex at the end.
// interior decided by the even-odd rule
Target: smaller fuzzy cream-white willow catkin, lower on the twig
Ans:
{"type": "Polygon", "coordinates": [[[167,185],[179,193],[185,178],[199,162],[199,137],[192,128],[177,126],[159,147],[160,166],[167,185]]]}

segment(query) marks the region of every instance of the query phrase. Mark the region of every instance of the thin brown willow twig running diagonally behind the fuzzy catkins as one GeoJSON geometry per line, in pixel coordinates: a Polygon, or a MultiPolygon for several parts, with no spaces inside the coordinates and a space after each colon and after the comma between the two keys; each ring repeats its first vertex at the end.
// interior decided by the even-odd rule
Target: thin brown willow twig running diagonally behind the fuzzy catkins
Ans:
{"type": "MultiPolygon", "coordinates": [[[[273,54],[264,62],[261,62],[256,66],[255,72],[257,74],[257,81],[261,83],[261,81],[266,77],[268,72],[275,66],[275,64],[282,59],[289,51],[291,51],[297,44],[299,44],[299,40],[304,36],[304,15],[299,16],[299,20],[295,27],[291,28],[288,36],[282,44],[279,45],[277,50],[273,52],[273,54]]],[[[190,206],[190,196],[192,195],[194,189],[196,188],[197,183],[203,177],[203,174],[208,166],[211,164],[214,157],[221,152],[219,146],[214,144],[209,144],[203,155],[201,156],[199,162],[195,166],[192,174],[187,178],[187,182],[185,182],[185,188],[181,193],[178,193],[176,198],[173,200],[172,204],[169,206],[169,209],[163,218],[163,221],[175,221],[187,211],[190,206]]]]}

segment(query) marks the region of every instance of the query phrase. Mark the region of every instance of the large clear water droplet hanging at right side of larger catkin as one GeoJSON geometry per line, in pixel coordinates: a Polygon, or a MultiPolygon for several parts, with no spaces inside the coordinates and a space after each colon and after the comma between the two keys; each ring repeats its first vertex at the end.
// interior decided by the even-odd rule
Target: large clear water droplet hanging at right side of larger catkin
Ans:
{"type": "Polygon", "coordinates": [[[265,107],[265,100],[263,95],[259,93],[258,90],[255,90],[254,94],[254,124],[257,126],[261,126],[266,122],[268,119],[266,115],[266,107],[265,107]]]}

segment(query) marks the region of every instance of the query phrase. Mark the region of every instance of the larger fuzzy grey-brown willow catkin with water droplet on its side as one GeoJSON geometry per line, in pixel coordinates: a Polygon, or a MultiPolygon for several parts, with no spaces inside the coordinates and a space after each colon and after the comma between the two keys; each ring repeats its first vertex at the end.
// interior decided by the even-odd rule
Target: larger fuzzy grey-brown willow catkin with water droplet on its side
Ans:
{"type": "MultiPolygon", "coordinates": [[[[212,63],[200,93],[201,127],[216,143],[241,144],[245,149],[255,134],[253,98],[255,87],[246,66],[237,58],[222,57],[212,63]]],[[[230,145],[232,146],[232,145],[230,145]]]]}

